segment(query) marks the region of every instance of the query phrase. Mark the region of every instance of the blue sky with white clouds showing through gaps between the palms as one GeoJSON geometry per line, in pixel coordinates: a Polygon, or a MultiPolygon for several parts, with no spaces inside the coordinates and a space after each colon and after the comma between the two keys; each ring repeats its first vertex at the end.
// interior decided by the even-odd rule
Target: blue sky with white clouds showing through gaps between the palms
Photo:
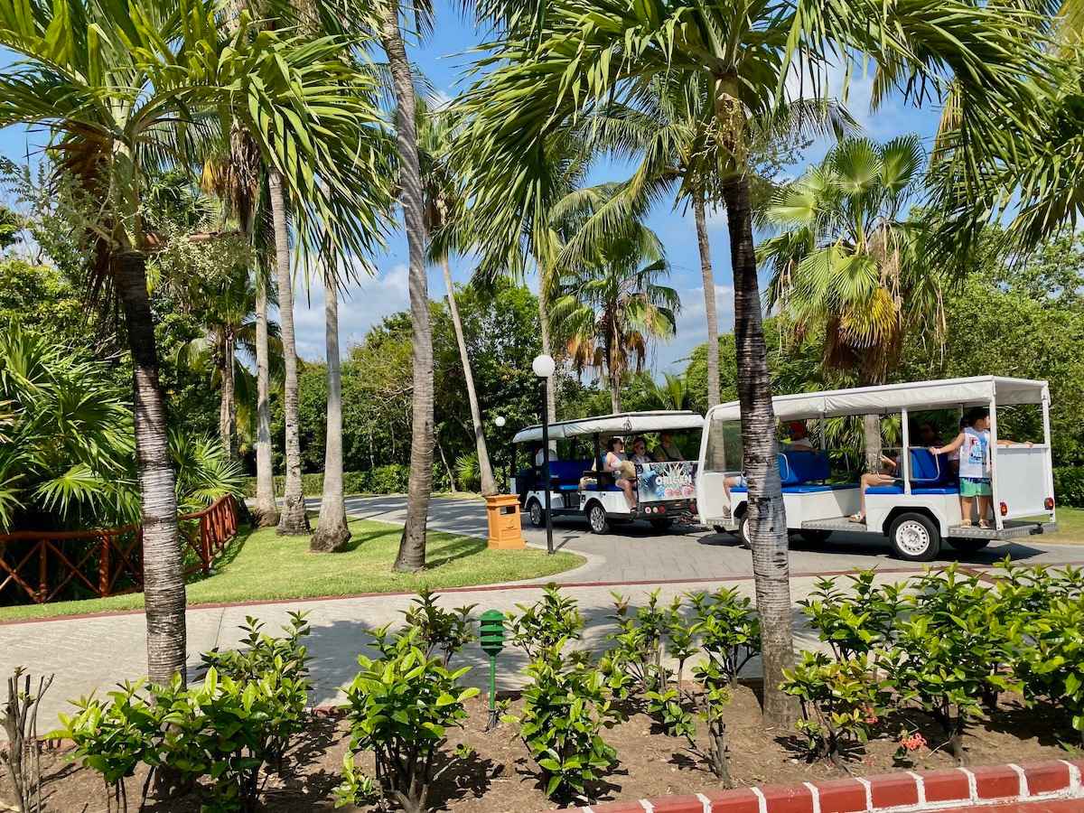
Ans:
{"type": "MultiPolygon", "coordinates": [[[[482,37],[473,23],[464,20],[456,3],[437,0],[436,18],[433,35],[425,42],[412,47],[411,55],[438,93],[453,96],[463,87],[461,79],[470,62],[467,52],[482,37]]],[[[0,57],[0,67],[8,62],[0,57]]],[[[842,72],[836,77],[834,86],[839,92],[842,72]]],[[[852,69],[848,93],[848,107],[870,138],[883,141],[898,134],[918,132],[929,143],[937,125],[937,111],[916,111],[890,99],[876,113],[870,113],[869,78],[863,76],[861,68],[856,73],[852,69]]],[[[47,133],[41,131],[28,133],[24,128],[7,128],[0,130],[0,154],[22,162],[28,151],[33,156],[46,140],[47,133]]],[[[812,145],[803,160],[790,168],[788,175],[800,175],[806,164],[823,156],[826,147],[824,143],[812,145]]],[[[623,170],[624,167],[620,166],[598,167],[592,181],[621,180],[623,170]]],[[[679,291],[683,305],[678,319],[678,335],[669,343],[657,344],[651,353],[651,369],[660,374],[683,367],[682,360],[689,350],[705,340],[704,288],[692,212],[685,215],[671,210],[669,206],[660,206],[651,212],[648,224],[666,246],[671,264],[670,284],[679,291]]],[[[710,216],[708,225],[720,323],[728,328],[733,323],[733,293],[725,214],[710,216]]],[[[351,285],[339,305],[344,346],[360,341],[365,331],[383,317],[406,307],[405,263],[406,242],[401,233],[397,233],[389,241],[387,251],[374,258],[376,275],[351,285]]],[[[468,261],[453,259],[452,272],[457,283],[464,283],[470,278],[472,268],[468,261]]],[[[533,281],[531,284],[533,287],[533,281]]],[[[429,274],[429,295],[434,298],[444,295],[443,281],[437,269],[429,274]]],[[[323,291],[313,287],[308,297],[304,291],[296,292],[295,296],[298,352],[306,359],[320,359],[324,345],[323,291]]]]}

